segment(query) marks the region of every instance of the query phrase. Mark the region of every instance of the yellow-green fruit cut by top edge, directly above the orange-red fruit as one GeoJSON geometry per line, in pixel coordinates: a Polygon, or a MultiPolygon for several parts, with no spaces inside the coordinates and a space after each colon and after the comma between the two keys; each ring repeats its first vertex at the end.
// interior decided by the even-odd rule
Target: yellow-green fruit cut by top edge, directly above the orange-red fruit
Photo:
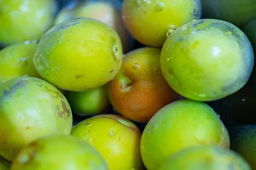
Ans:
{"type": "Polygon", "coordinates": [[[201,0],[124,0],[122,18],[139,42],[161,47],[168,30],[201,17],[201,0]]]}

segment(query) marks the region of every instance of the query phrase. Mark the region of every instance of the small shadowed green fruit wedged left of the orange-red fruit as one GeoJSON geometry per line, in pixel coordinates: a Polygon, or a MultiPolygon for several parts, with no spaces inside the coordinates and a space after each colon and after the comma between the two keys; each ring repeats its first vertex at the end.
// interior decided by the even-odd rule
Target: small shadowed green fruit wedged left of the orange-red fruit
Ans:
{"type": "Polygon", "coordinates": [[[95,116],[110,107],[106,85],[90,91],[68,91],[67,100],[74,113],[79,116],[95,116]]]}

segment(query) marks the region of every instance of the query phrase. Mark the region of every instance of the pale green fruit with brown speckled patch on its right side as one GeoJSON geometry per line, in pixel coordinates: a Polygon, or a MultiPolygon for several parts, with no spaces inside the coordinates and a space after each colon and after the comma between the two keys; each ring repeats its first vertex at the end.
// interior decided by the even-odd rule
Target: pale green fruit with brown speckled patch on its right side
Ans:
{"type": "Polygon", "coordinates": [[[29,142],[49,134],[69,135],[67,99],[48,82],[18,77],[0,85],[0,156],[13,160],[29,142]]]}

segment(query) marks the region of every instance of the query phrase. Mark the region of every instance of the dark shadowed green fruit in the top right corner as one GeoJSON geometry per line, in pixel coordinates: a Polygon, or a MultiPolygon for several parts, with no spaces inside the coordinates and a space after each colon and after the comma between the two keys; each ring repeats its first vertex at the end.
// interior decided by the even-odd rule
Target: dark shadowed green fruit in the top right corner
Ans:
{"type": "Polygon", "coordinates": [[[243,28],[256,18],[256,0],[202,0],[203,18],[224,20],[243,28]]]}

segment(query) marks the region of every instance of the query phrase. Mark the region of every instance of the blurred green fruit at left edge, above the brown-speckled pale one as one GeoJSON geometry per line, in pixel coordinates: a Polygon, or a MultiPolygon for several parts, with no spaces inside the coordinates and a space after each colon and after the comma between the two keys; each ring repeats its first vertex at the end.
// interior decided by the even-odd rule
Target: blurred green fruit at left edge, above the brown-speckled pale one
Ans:
{"type": "Polygon", "coordinates": [[[0,83],[27,75],[40,77],[32,62],[37,44],[19,42],[0,51],[0,83]]]}

